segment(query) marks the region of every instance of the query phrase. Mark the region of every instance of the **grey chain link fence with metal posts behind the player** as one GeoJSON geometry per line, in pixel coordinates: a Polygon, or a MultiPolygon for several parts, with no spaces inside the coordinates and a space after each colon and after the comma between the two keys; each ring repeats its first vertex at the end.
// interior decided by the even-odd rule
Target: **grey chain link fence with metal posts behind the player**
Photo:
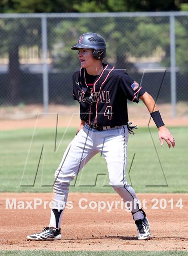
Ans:
{"type": "Polygon", "coordinates": [[[172,103],[175,116],[188,95],[188,12],[0,14],[0,105],[75,104],[80,64],[70,48],[90,31],[105,38],[105,61],[172,103]]]}

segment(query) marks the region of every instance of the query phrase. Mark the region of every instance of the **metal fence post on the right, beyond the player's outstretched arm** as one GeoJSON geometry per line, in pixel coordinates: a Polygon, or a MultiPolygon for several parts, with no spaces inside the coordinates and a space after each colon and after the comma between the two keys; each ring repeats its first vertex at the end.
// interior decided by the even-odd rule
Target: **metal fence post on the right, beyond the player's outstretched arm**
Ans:
{"type": "Polygon", "coordinates": [[[172,117],[176,115],[176,70],[175,70],[175,16],[170,16],[170,45],[171,45],[171,105],[172,117]]]}

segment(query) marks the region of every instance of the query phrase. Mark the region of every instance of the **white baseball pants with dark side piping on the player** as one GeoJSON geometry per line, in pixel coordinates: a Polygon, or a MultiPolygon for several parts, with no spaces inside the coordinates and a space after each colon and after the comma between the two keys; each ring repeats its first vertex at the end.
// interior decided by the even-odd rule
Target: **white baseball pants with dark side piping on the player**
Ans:
{"type": "Polygon", "coordinates": [[[83,166],[97,153],[102,153],[107,162],[110,185],[123,198],[132,202],[132,213],[139,209],[138,199],[126,181],[127,166],[127,126],[97,131],[85,126],[68,145],[60,166],[55,172],[54,209],[63,209],[67,202],[70,182],[81,171],[83,166]],[[137,203],[134,203],[137,202],[137,203]]]}

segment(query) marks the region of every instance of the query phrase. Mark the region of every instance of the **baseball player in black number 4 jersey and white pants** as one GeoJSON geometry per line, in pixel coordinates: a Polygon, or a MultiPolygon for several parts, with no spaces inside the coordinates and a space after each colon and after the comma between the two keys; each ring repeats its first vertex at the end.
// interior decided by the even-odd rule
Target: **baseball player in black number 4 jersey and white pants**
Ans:
{"type": "Polygon", "coordinates": [[[165,127],[152,96],[126,72],[103,63],[106,43],[102,36],[85,33],[71,49],[78,50],[81,63],[81,68],[73,73],[73,99],[80,103],[81,123],[55,172],[50,223],[43,231],[29,235],[27,239],[61,239],[60,223],[69,184],[97,153],[101,153],[107,162],[110,185],[124,202],[130,204],[138,239],[148,239],[149,221],[125,176],[128,132],[133,133],[132,130],[137,128],[128,123],[127,99],[136,103],[141,99],[144,102],[158,127],[161,145],[164,139],[169,148],[171,144],[175,147],[175,140],[165,127]]]}

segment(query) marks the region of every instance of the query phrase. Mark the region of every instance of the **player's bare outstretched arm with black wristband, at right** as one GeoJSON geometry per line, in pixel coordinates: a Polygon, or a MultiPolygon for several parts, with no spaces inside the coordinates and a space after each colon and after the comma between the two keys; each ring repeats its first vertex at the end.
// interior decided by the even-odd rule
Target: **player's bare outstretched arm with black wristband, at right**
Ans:
{"type": "Polygon", "coordinates": [[[172,147],[174,148],[175,140],[171,135],[170,131],[165,127],[153,97],[147,92],[145,92],[139,99],[143,101],[148,111],[150,112],[151,117],[153,118],[156,126],[158,127],[158,138],[161,142],[161,145],[163,145],[164,139],[168,144],[168,148],[171,148],[171,144],[172,147]]]}

